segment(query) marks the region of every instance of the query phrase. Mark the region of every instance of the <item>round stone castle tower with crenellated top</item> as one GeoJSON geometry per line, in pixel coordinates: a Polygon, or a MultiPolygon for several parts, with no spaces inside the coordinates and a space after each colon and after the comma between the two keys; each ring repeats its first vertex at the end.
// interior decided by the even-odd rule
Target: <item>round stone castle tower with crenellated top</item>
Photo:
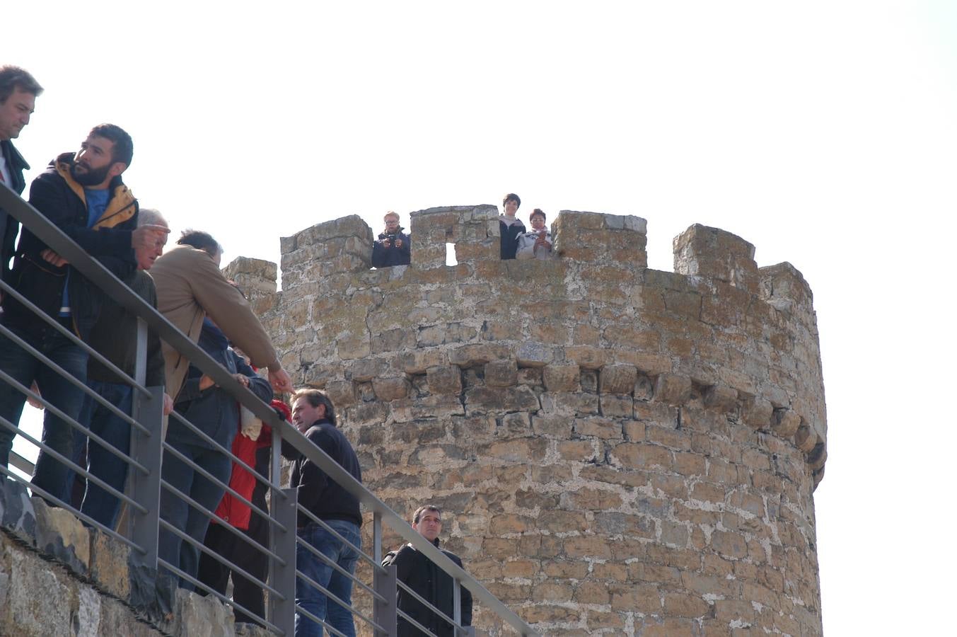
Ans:
{"type": "Polygon", "coordinates": [[[358,216],[314,226],[282,239],[278,294],[268,264],[234,270],[367,486],[441,505],[449,548],[543,634],[820,635],[801,274],[701,225],[651,270],[644,219],[568,211],[559,259],[501,262],[497,215],[413,213],[412,264],[383,270],[358,216]]]}

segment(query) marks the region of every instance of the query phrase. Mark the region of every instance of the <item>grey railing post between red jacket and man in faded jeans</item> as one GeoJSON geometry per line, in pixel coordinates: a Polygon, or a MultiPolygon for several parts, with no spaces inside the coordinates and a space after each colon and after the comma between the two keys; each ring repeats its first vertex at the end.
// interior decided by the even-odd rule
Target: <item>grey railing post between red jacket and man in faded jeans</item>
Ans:
{"type": "MultiPolygon", "coordinates": [[[[274,443],[277,438],[274,437],[274,443]]],[[[296,489],[274,492],[270,513],[286,530],[280,530],[275,524],[270,525],[269,548],[286,564],[283,566],[271,559],[269,580],[286,599],[283,601],[276,595],[269,596],[269,621],[286,635],[292,635],[296,631],[296,489]],[[282,493],[286,497],[282,497],[282,493]]]]}

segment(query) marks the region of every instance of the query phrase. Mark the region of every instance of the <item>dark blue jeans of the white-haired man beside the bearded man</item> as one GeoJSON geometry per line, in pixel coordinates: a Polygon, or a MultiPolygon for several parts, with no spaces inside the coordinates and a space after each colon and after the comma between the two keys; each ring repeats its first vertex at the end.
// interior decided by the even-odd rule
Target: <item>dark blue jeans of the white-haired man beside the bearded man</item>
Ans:
{"type": "MultiPolygon", "coordinates": [[[[100,380],[89,380],[86,385],[127,416],[133,413],[133,388],[129,385],[100,380]]],[[[95,399],[89,396],[83,398],[83,407],[79,410],[78,420],[104,441],[129,455],[131,425],[95,399]]],[[[77,429],[74,431],[73,438],[73,460],[80,466],[83,464],[81,461],[84,448],[86,448],[86,470],[113,489],[122,491],[126,485],[126,473],[129,468],[126,461],[96,441],[90,440],[87,444],[87,436],[77,429]]],[[[72,485],[73,480],[68,479],[68,497],[72,485]]],[[[103,526],[116,530],[117,516],[120,514],[120,498],[92,480],[87,480],[79,510],[103,526]]]]}

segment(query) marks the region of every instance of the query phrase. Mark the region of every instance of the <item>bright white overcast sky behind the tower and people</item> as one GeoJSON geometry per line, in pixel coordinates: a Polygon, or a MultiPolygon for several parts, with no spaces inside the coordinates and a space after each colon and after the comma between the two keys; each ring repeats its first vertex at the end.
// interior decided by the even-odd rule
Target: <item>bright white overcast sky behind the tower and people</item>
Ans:
{"type": "Polygon", "coordinates": [[[957,5],[141,7],[5,11],[0,60],[46,87],[17,141],[28,177],[92,125],[122,125],[141,204],[176,234],[211,231],[226,262],[277,261],[280,236],[337,216],[378,231],[390,209],[408,225],[506,192],[523,218],[647,218],[657,269],[692,223],[736,233],[814,291],[826,634],[941,632],[957,566],[957,423],[936,404],[957,353],[957,5]]]}

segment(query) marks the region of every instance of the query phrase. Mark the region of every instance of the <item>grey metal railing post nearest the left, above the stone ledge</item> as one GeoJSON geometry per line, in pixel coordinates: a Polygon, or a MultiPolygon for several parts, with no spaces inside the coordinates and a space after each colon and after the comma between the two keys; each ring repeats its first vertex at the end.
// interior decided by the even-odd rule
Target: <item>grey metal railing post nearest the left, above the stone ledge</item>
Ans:
{"type": "Polygon", "coordinates": [[[130,427],[129,456],[146,467],[148,473],[131,468],[130,498],[146,512],[127,507],[130,539],[143,547],[145,565],[156,568],[157,544],[160,536],[160,475],[163,456],[163,387],[149,387],[149,396],[133,390],[133,419],[149,432],[130,427]]]}

